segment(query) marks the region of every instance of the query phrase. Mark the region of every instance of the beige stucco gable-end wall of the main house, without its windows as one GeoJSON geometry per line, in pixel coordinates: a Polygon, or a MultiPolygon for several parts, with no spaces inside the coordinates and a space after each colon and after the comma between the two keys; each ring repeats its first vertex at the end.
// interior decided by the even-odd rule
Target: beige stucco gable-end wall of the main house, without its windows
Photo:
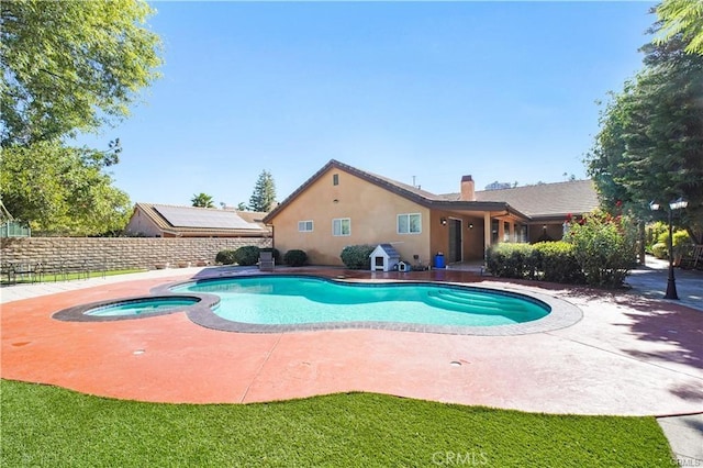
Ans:
{"type": "Polygon", "coordinates": [[[431,222],[428,209],[336,168],[271,220],[276,248],[281,254],[292,248],[305,250],[313,265],[342,265],[339,253],[345,246],[380,243],[393,244],[401,259],[415,263],[413,255],[419,255],[428,264],[431,222]],[[339,178],[337,186],[333,185],[334,174],[339,178]],[[404,213],[422,215],[422,233],[398,234],[398,214],[404,213]],[[332,235],[333,220],[341,218],[352,220],[352,235],[332,235]],[[313,221],[313,232],[299,232],[299,221],[313,221]]]}

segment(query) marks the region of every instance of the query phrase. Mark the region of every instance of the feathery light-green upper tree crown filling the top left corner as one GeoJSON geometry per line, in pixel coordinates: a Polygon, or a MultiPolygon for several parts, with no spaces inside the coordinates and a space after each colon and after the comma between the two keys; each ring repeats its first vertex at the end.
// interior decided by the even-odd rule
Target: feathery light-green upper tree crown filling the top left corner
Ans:
{"type": "Polygon", "coordinates": [[[145,1],[13,0],[0,12],[3,147],[119,121],[159,76],[145,1]]]}

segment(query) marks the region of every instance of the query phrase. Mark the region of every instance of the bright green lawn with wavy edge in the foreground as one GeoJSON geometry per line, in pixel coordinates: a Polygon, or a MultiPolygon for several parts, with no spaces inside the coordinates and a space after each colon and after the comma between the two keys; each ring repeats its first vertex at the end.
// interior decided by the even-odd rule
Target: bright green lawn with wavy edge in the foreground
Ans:
{"type": "Polygon", "coordinates": [[[2,466],[671,467],[654,417],[341,393],[155,404],[2,380],[2,466]]]}

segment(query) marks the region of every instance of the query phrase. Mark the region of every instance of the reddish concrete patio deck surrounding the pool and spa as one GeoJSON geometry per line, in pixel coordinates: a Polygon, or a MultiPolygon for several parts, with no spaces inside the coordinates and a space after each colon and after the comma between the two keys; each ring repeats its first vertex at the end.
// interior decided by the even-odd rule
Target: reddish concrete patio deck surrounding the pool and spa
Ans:
{"type": "Polygon", "coordinates": [[[188,279],[180,275],[2,304],[0,377],[174,403],[370,391],[547,413],[703,410],[702,312],[624,292],[436,274],[444,280],[554,294],[581,308],[583,319],[567,328],[520,336],[379,330],[228,333],[198,326],[185,313],[103,323],[52,319],[65,308],[147,294],[159,285],[188,279]]]}

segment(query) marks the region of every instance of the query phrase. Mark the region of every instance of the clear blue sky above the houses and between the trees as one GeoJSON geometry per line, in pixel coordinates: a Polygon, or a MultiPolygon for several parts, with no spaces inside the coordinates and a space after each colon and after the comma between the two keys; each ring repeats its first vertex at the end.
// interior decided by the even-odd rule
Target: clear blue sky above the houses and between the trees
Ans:
{"type": "Polygon", "coordinates": [[[652,2],[154,2],[164,78],[121,138],[133,202],[283,200],[335,158],[423,189],[585,177],[652,2]]]}

